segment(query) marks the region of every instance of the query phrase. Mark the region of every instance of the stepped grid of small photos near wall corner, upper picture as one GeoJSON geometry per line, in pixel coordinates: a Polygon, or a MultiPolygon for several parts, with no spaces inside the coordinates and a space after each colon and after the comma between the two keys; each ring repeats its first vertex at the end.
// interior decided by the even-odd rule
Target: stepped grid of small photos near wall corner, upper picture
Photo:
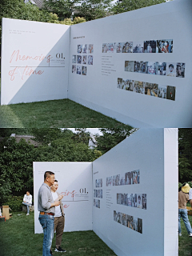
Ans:
{"type": "Polygon", "coordinates": [[[77,55],[72,55],[72,73],[86,75],[87,65],[93,65],[94,45],[78,45],[77,55]]]}

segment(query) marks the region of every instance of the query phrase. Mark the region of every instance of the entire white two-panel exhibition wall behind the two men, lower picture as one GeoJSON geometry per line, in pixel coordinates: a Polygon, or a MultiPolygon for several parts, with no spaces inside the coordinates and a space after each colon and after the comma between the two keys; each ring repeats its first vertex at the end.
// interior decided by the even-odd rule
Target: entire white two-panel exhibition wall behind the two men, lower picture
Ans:
{"type": "Polygon", "coordinates": [[[138,130],[93,163],[34,162],[35,233],[46,170],[70,192],[64,231],[94,230],[118,256],[178,255],[177,129],[138,130]]]}

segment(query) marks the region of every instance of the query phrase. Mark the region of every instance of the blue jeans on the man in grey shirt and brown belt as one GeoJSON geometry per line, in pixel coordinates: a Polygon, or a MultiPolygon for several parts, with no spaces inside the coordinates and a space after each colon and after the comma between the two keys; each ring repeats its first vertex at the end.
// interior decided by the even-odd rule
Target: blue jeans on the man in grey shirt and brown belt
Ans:
{"type": "Polygon", "coordinates": [[[43,229],[42,256],[51,256],[50,247],[54,238],[54,216],[39,214],[39,222],[43,229]]]}

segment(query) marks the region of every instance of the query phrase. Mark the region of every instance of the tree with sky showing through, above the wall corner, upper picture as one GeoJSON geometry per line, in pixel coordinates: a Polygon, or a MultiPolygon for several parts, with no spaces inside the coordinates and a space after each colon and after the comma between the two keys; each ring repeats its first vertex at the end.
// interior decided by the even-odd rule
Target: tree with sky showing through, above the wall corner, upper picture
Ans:
{"type": "Polygon", "coordinates": [[[80,5],[75,6],[75,16],[86,18],[91,21],[97,18],[109,16],[108,11],[112,0],[82,0],[80,5]]]}

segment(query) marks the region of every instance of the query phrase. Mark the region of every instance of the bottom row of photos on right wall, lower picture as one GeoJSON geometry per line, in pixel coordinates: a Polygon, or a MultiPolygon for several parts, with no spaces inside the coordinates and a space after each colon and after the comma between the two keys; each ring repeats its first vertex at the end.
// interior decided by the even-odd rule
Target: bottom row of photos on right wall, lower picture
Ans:
{"type": "Polygon", "coordinates": [[[114,210],[114,221],[142,234],[142,218],[135,218],[134,216],[122,214],[114,210]]]}

